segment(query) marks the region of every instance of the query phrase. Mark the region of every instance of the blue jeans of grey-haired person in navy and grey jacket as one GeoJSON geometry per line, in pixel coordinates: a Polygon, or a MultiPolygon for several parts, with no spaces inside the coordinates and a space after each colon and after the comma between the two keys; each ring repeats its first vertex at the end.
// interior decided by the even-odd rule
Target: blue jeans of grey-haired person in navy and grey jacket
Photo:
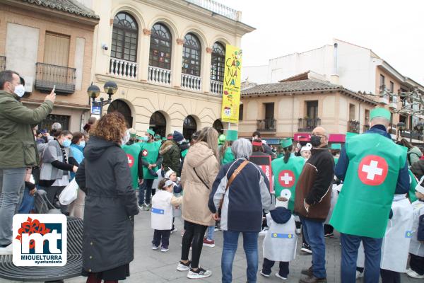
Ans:
{"type": "Polygon", "coordinates": [[[221,258],[221,270],[223,272],[223,283],[232,282],[232,262],[234,261],[235,252],[237,251],[237,243],[239,234],[243,234],[243,248],[247,260],[247,282],[257,282],[258,272],[258,233],[257,232],[224,232],[224,247],[221,258]]]}

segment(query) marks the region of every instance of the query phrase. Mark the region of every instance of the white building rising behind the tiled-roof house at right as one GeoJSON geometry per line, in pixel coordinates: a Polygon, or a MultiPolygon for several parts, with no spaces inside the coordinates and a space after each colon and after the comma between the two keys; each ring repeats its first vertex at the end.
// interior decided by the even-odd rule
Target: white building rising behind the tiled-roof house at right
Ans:
{"type": "MultiPolygon", "coordinates": [[[[277,83],[287,81],[288,78],[293,80],[298,78],[299,74],[309,74],[314,78],[343,86],[354,93],[379,96],[382,93],[397,94],[416,90],[420,95],[424,94],[424,86],[400,74],[372,50],[342,40],[334,40],[333,45],[324,45],[307,52],[270,59],[266,66],[243,68],[243,78],[258,83],[277,83]]],[[[399,112],[408,107],[418,110],[424,105],[411,105],[411,101],[394,96],[371,99],[391,110],[393,128],[399,122],[405,123],[406,131],[402,131],[401,135],[410,137],[416,125],[424,120],[423,115],[399,112]]],[[[363,129],[363,126],[366,125],[361,122],[360,128],[363,129]]]]}

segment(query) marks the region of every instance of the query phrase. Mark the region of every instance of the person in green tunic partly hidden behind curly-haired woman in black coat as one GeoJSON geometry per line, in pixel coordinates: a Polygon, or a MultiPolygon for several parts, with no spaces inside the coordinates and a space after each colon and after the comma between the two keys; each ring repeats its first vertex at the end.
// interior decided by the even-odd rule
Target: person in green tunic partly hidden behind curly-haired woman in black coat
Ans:
{"type": "Polygon", "coordinates": [[[129,129],[129,141],[122,145],[122,149],[128,158],[129,171],[131,171],[131,179],[133,189],[139,188],[143,183],[143,166],[139,163],[140,146],[136,142],[137,132],[135,129],[129,129]]]}

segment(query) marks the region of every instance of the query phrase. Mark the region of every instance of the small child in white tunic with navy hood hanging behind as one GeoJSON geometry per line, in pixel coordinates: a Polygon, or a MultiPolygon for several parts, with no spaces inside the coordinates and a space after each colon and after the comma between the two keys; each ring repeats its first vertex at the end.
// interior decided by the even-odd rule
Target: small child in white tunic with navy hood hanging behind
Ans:
{"type": "Polygon", "coordinates": [[[266,214],[269,230],[263,244],[264,263],[261,275],[264,277],[271,275],[271,267],[278,261],[280,269],[276,277],[286,280],[289,273],[288,262],[295,259],[298,236],[295,233],[295,217],[287,209],[290,197],[290,190],[282,190],[276,199],[276,208],[266,214]]]}

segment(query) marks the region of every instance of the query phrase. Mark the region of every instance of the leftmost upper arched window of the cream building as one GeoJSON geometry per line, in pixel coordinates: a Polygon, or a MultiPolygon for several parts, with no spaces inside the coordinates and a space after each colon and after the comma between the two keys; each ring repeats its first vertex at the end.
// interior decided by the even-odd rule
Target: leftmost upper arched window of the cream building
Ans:
{"type": "Polygon", "coordinates": [[[132,16],[120,12],[113,19],[110,56],[136,62],[139,27],[132,16]]]}

